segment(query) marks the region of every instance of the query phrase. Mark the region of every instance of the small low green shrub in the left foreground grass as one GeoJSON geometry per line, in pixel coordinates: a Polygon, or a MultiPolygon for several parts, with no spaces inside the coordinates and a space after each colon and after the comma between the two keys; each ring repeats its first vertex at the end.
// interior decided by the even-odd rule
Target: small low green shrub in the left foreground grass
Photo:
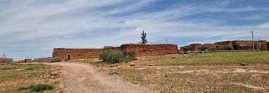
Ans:
{"type": "Polygon", "coordinates": [[[30,89],[33,92],[42,92],[43,90],[49,90],[53,89],[54,87],[52,85],[46,85],[46,84],[38,84],[38,85],[31,85],[30,89]]]}

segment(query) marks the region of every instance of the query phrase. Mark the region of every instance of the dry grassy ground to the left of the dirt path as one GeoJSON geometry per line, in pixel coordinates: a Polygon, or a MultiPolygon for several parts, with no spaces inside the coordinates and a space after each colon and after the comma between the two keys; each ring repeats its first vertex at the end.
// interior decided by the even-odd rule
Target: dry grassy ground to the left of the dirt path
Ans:
{"type": "Polygon", "coordinates": [[[60,78],[49,75],[54,70],[44,64],[1,63],[0,92],[35,92],[41,88],[51,89],[44,92],[61,92],[60,78]]]}

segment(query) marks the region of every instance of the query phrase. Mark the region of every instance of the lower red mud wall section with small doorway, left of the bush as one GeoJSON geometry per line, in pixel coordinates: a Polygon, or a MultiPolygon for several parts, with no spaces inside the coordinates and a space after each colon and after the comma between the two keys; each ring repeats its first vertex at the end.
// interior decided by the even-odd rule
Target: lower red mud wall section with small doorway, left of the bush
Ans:
{"type": "Polygon", "coordinates": [[[64,60],[68,59],[68,55],[71,55],[71,60],[98,58],[99,53],[103,52],[103,49],[64,49],[55,48],[53,57],[59,56],[64,60]]]}

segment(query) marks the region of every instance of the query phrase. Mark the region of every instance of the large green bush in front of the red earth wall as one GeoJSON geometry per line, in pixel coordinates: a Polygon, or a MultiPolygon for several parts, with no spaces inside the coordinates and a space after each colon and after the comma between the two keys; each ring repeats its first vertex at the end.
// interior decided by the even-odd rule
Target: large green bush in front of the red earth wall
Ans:
{"type": "Polygon", "coordinates": [[[99,54],[99,58],[107,63],[120,63],[136,60],[135,51],[121,51],[119,49],[106,49],[99,54]]]}

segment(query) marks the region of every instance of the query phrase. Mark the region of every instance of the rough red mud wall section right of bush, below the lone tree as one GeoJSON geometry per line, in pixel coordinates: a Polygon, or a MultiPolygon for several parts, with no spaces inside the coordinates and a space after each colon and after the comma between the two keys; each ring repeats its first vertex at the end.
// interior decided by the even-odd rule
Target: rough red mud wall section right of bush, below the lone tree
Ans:
{"type": "Polygon", "coordinates": [[[176,44],[123,44],[120,46],[120,50],[136,51],[137,57],[178,53],[176,44]]]}

